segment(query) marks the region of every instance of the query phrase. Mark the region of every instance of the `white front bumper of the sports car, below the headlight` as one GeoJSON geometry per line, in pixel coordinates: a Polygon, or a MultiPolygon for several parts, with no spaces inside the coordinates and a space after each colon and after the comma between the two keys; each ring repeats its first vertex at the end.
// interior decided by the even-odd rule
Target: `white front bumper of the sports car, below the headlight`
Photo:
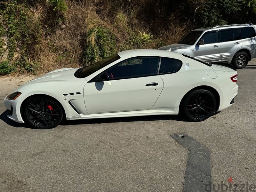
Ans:
{"type": "Polygon", "coordinates": [[[6,97],[4,98],[4,106],[11,111],[10,113],[8,113],[7,117],[12,121],[15,121],[18,123],[25,123],[20,113],[20,107],[21,107],[22,101],[23,100],[12,101],[12,100],[6,99],[6,97]]]}

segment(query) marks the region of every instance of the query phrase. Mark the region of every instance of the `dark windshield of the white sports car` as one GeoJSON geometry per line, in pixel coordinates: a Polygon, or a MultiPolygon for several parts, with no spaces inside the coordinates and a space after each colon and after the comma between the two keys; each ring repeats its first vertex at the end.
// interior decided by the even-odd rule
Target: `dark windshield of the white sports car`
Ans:
{"type": "Polygon", "coordinates": [[[75,77],[85,78],[118,59],[120,59],[120,56],[116,53],[115,55],[112,55],[106,59],[100,60],[90,66],[79,68],[75,72],[75,77]]]}

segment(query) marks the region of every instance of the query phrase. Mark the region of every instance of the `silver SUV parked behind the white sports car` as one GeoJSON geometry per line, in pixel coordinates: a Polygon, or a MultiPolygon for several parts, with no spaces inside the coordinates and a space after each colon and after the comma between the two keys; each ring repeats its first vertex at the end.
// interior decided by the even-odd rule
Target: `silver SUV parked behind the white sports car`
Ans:
{"type": "Polygon", "coordinates": [[[205,62],[226,62],[244,68],[256,57],[256,25],[236,24],[198,28],[178,44],[159,49],[182,53],[205,62]]]}

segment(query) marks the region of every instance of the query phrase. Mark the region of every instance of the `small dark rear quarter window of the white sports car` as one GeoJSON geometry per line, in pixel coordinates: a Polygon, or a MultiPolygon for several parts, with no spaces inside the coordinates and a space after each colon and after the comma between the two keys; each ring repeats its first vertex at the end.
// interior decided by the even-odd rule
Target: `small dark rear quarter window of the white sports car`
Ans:
{"type": "Polygon", "coordinates": [[[159,74],[175,73],[180,70],[182,62],[177,59],[162,58],[159,74]]]}

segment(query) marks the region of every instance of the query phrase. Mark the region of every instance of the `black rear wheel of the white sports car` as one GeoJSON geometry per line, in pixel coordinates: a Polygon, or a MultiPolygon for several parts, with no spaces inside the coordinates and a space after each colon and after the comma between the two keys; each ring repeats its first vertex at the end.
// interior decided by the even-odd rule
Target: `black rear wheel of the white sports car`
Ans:
{"type": "Polygon", "coordinates": [[[214,113],[216,98],[208,90],[194,90],[186,95],[181,107],[183,114],[189,121],[204,121],[214,113]]]}

